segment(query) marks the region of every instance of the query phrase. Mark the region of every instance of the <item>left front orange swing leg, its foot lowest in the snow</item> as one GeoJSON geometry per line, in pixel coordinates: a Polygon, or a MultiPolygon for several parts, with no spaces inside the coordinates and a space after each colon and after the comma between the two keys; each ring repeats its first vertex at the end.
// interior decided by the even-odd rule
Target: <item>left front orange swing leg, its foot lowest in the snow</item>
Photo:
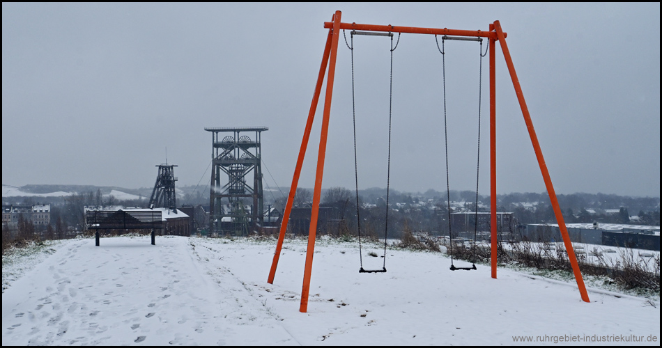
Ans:
{"type": "Polygon", "coordinates": [[[331,95],[333,93],[333,77],[336,71],[336,55],[338,53],[338,32],[340,31],[340,11],[334,15],[333,33],[331,39],[331,52],[329,60],[329,75],[326,81],[326,97],[324,100],[324,113],[322,118],[322,132],[320,135],[320,148],[317,156],[317,173],[315,175],[315,191],[313,193],[313,207],[310,216],[310,231],[308,232],[308,249],[306,252],[306,265],[303,272],[303,287],[301,290],[301,305],[299,311],[308,310],[308,292],[310,289],[310,274],[313,268],[313,253],[315,251],[315,238],[317,235],[317,217],[322,189],[322,175],[324,173],[324,157],[326,155],[326,141],[329,131],[329,116],[331,113],[331,95]]]}

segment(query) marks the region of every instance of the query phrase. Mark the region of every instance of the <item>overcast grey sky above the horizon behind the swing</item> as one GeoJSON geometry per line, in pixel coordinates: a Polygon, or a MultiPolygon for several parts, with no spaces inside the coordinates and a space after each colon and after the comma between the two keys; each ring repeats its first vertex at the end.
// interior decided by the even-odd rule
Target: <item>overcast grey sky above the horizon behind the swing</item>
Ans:
{"type": "MultiPolygon", "coordinates": [[[[204,185],[204,127],[265,126],[263,161],[288,187],[328,34],[323,22],[335,10],[342,22],[362,24],[488,30],[500,20],[556,192],[659,197],[659,3],[2,3],[2,183],[151,187],[167,148],[178,184],[204,185]]],[[[359,187],[386,187],[390,41],[359,36],[354,46],[359,187]]],[[[450,187],[473,190],[479,44],[445,49],[450,187]]],[[[500,47],[496,62],[498,192],[543,192],[500,47]]],[[[434,37],[401,35],[393,70],[391,187],[443,191],[434,37]]],[[[314,186],[322,107],[300,187],[314,186]]],[[[323,186],[354,187],[342,39],[323,186]]]]}

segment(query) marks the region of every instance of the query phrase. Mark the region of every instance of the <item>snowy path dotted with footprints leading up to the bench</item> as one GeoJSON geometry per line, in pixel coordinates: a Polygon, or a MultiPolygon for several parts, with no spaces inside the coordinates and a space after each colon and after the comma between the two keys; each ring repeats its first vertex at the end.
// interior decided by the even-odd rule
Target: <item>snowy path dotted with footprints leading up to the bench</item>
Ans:
{"type": "Polygon", "coordinates": [[[72,240],[2,296],[3,345],[291,343],[232,276],[211,282],[183,238],[72,240]],[[253,343],[259,343],[254,341],[253,343]]]}

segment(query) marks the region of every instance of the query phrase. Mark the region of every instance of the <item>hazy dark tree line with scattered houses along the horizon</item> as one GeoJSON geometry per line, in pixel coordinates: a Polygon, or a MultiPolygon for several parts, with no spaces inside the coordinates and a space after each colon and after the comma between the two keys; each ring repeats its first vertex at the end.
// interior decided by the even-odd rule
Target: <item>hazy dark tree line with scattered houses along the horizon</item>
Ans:
{"type": "MultiPolygon", "coordinates": [[[[266,205],[274,205],[281,212],[286,203],[283,192],[265,192],[266,205]],[[273,194],[272,194],[273,193],[273,194]]],[[[294,207],[309,207],[312,202],[312,190],[298,188],[293,200],[294,207]]],[[[404,228],[413,231],[426,231],[444,235],[448,230],[447,198],[453,202],[464,202],[463,207],[453,206],[451,212],[463,209],[475,211],[475,191],[450,191],[449,193],[428,190],[424,193],[406,193],[397,190],[388,192],[390,209],[386,209],[386,189],[373,188],[359,191],[358,202],[356,191],[344,187],[324,189],[321,197],[321,207],[331,208],[329,221],[321,228],[334,234],[352,234],[359,227],[364,235],[375,237],[399,237],[404,228]],[[357,204],[358,203],[358,204],[357,204]],[[419,203],[424,203],[420,205],[419,203]],[[386,221],[388,214],[388,223],[386,221]],[[359,223],[360,222],[360,223],[359,223]]],[[[660,225],[659,198],[638,198],[617,196],[603,193],[573,193],[557,195],[564,220],[567,223],[632,223],[640,225],[660,225]],[[605,209],[619,209],[616,214],[610,214],[605,209]],[[591,210],[591,211],[590,211],[591,210]],[[637,220],[633,220],[637,216],[637,220]]],[[[76,235],[84,230],[84,206],[90,205],[123,205],[125,207],[144,207],[148,200],[121,200],[114,196],[103,195],[101,189],[82,193],[73,193],[64,197],[12,197],[3,198],[3,205],[34,205],[50,204],[51,218],[47,226],[34,226],[27,216],[22,217],[16,226],[3,225],[3,245],[6,240],[17,236],[22,239],[47,238],[59,239],[76,235]]],[[[203,189],[190,191],[178,199],[178,205],[201,204],[208,207],[208,195],[203,189]]],[[[250,204],[250,203],[249,203],[250,204]]],[[[478,196],[478,211],[488,212],[490,197],[478,196]]],[[[498,195],[498,212],[514,213],[516,222],[521,226],[528,223],[556,223],[555,215],[549,197],[543,193],[508,193],[498,195]]]]}

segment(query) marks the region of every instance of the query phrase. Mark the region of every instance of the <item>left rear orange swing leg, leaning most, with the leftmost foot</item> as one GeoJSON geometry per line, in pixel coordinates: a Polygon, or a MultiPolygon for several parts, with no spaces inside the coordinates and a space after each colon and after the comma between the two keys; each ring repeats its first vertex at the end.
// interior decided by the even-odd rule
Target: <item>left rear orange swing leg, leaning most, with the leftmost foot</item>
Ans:
{"type": "Polygon", "coordinates": [[[278,266],[278,259],[280,258],[280,251],[283,247],[283,239],[285,238],[285,232],[287,230],[287,223],[290,220],[290,213],[292,212],[292,203],[294,201],[294,196],[297,191],[297,185],[299,184],[299,175],[301,174],[301,166],[303,164],[303,159],[306,155],[306,149],[308,148],[308,139],[310,139],[310,129],[313,127],[313,120],[315,118],[315,111],[317,110],[317,103],[319,101],[320,92],[322,90],[322,83],[324,81],[326,65],[329,62],[329,53],[331,52],[331,33],[332,31],[331,29],[329,29],[329,35],[326,39],[326,46],[324,48],[324,55],[322,56],[322,65],[320,66],[320,72],[317,77],[317,84],[315,86],[313,101],[310,103],[310,110],[308,111],[308,121],[306,122],[306,130],[303,133],[301,148],[299,150],[299,157],[297,159],[297,166],[294,169],[294,176],[292,177],[290,194],[287,198],[285,211],[283,212],[283,220],[281,221],[281,225],[280,225],[280,233],[278,235],[278,242],[276,244],[276,252],[274,253],[274,260],[271,263],[271,270],[269,271],[269,278],[267,280],[269,284],[274,283],[274,277],[276,275],[276,267],[278,266]]]}

